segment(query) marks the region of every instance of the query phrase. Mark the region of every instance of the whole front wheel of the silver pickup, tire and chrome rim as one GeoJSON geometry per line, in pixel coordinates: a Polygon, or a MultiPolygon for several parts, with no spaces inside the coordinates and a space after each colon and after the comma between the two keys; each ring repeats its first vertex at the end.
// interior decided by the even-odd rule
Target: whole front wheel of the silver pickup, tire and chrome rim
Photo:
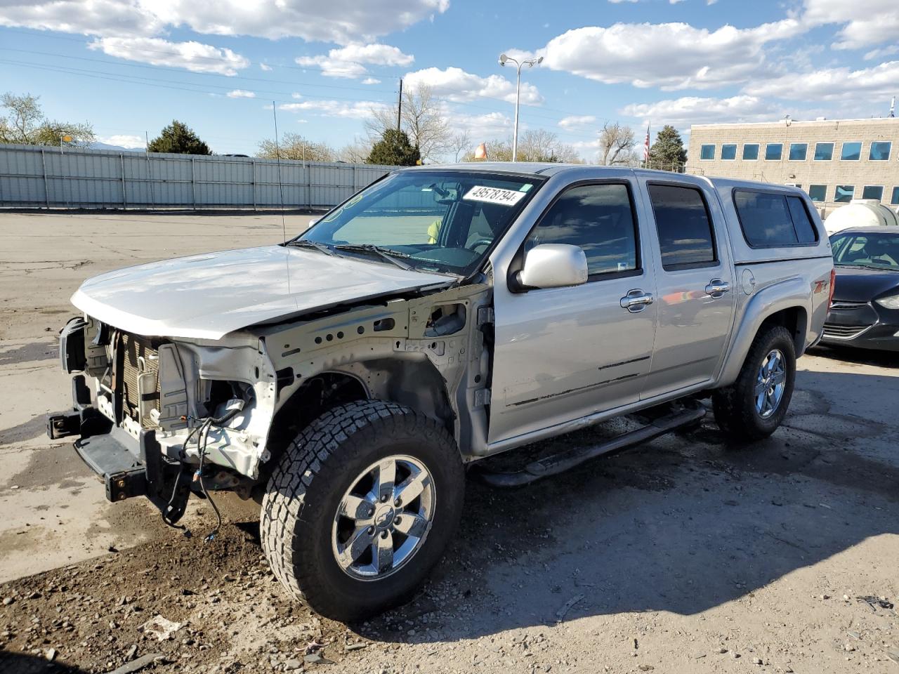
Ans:
{"type": "Polygon", "coordinates": [[[263,550],[297,599],[336,620],[409,599],[453,536],[465,480],[447,430],[381,401],[339,405],[290,443],[263,498],[263,550]]]}

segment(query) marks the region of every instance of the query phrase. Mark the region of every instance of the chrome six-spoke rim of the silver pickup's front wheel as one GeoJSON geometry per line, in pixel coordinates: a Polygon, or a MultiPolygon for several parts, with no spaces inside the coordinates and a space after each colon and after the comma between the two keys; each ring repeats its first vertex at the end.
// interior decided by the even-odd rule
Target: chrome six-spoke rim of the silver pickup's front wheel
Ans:
{"type": "Polygon", "coordinates": [[[331,545],[343,572],[375,581],[398,571],[422,548],[436,495],[417,458],[386,457],[362,471],[334,516],[331,545]]]}

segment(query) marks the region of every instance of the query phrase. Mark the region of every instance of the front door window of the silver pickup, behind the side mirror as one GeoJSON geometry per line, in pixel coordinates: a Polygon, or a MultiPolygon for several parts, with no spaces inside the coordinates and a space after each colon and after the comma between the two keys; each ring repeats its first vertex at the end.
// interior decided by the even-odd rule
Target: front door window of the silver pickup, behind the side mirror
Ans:
{"type": "Polygon", "coordinates": [[[580,185],[566,190],[540,218],[524,244],[580,246],[590,279],[640,270],[636,218],[627,184],[580,185]]]}

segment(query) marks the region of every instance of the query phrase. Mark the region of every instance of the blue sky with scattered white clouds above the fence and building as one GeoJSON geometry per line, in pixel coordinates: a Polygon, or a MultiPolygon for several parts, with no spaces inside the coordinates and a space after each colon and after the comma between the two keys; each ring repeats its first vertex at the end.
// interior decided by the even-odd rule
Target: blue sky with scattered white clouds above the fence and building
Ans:
{"type": "MultiPolygon", "coordinates": [[[[472,145],[547,129],[595,160],[598,129],[886,116],[897,0],[2,0],[0,92],[143,147],[173,119],[219,154],[280,133],[340,147],[398,82],[429,84],[472,145]]],[[[451,158],[451,157],[450,157],[451,158]]]]}

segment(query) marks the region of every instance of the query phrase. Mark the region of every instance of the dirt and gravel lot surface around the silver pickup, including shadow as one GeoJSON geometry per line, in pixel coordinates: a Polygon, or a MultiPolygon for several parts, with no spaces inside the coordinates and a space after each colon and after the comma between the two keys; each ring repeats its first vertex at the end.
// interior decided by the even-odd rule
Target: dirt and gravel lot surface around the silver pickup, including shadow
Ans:
{"type": "MultiPolygon", "coordinates": [[[[0,216],[4,256],[22,262],[19,280],[33,292],[0,289],[0,377],[33,368],[47,393],[22,388],[11,421],[0,420],[9,579],[0,672],[899,674],[895,357],[819,350],[801,359],[785,427],[751,448],[726,446],[704,421],[525,488],[469,483],[458,537],[416,599],[343,625],[292,604],[272,580],[252,503],[223,498],[226,525],[203,543],[208,504],[191,505],[191,536],[141,501],[105,504],[102,484],[72,464],[66,443],[40,439],[33,421],[65,386],[42,358],[53,346],[44,328],[64,322],[80,279],[128,263],[116,249],[151,259],[277,240],[274,223],[232,218],[216,245],[206,240],[211,219],[200,224],[206,237],[182,223],[162,251],[141,238],[147,216],[118,216],[114,241],[102,239],[113,252],[98,262],[48,242],[60,229],[99,236],[109,226],[100,218],[10,218],[0,216]],[[65,267],[81,257],[88,262],[65,267]],[[58,266],[43,270],[49,259],[58,266]],[[41,310],[60,312],[57,322],[41,310]],[[157,616],[177,627],[163,640],[148,625],[157,616]]],[[[601,433],[553,442],[589,444],[601,433]]]]}

